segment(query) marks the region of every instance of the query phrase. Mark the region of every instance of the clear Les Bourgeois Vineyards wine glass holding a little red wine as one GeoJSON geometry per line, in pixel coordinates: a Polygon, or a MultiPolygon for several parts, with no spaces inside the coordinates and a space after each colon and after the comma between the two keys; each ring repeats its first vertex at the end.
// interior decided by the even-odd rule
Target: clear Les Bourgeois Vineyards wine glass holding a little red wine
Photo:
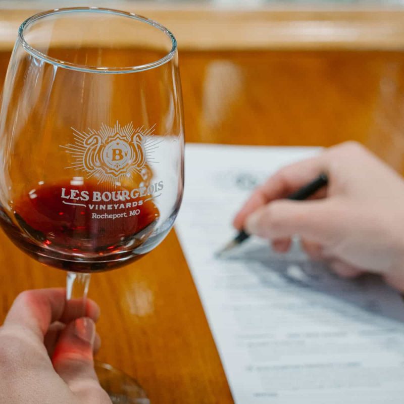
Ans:
{"type": "MultiPolygon", "coordinates": [[[[183,149],[168,29],[94,7],[21,25],[0,110],[0,223],[28,255],[68,271],[68,299],[84,303],[91,272],[165,238],[181,204],[183,149]]],[[[145,402],[127,376],[105,364],[98,372],[113,400],[145,402]]]]}

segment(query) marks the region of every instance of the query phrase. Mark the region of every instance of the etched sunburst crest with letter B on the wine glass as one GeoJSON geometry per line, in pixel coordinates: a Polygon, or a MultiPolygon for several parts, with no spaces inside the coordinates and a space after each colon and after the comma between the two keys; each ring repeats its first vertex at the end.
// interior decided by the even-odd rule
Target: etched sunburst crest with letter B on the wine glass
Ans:
{"type": "MultiPolygon", "coordinates": [[[[87,172],[87,178],[95,176],[98,183],[109,181],[115,183],[124,176],[141,173],[146,158],[154,152],[156,141],[153,137],[154,126],[146,130],[143,127],[134,130],[132,123],[121,126],[102,124],[97,131],[74,131],[74,143],[61,146],[66,153],[75,158],[75,162],[66,168],[80,169],[87,172]],[[151,150],[147,151],[147,147],[151,150]]],[[[151,158],[153,162],[153,158],[151,158]]]]}

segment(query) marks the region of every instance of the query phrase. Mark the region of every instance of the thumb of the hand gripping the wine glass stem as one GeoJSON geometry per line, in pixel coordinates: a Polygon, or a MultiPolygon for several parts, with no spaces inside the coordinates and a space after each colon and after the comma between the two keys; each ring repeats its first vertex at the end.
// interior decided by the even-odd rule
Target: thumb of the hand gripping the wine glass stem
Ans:
{"type": "Polygon", "coordinates": [[[71,322],[59,337],[52,362],[59,376],[83,403],[111,404],[94,370],[94,340],[95,324],[90,318],[81,317],[71,322]]]}

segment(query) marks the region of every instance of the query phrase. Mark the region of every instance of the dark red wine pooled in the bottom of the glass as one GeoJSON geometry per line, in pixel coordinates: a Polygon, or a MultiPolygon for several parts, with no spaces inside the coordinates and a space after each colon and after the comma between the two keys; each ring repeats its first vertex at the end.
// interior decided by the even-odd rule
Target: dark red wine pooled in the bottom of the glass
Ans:
{"type": "Polygon", "coordinates": [[[160,216],[154,197],[161,189],[159,183],[136,189],[43,184],[14,201],[15,223],[4,209],[0,222],[14,243],[45,264],[107,270],[139,258],[147,242],[156,244],[150,237],[165,236],[152,236],[160,216]]]}

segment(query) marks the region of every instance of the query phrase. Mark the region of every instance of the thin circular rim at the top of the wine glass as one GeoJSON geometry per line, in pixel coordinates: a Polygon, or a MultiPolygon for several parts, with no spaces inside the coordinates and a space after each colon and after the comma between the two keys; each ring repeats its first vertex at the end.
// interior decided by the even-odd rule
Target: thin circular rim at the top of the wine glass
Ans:
{"type": "Polygon", "coordinates": [[[170,61],[177,52],[177,40],[175,39],[172,32],[167,29],[164,25],[158,23],[157,21],[150,20],[149,18],[140,16],[138,14],[129,13],[126,11],[121,10],[114,10],[108,8],[101,8],[101,7],[69,7],[69,8],[59,8],[44,11],[41,13],[37,13],[29,18],[27,18],[18,29],[18,41],[25,49],[33,57],[40,59],[46,63],[52,64],[54,66],[62,67],[65,69],[76,70],[80,72],[88,72],[88,73],[133,73],[133,72],[141,72],[144,70],[154,69],[156,67],[162,66],[168,61],[170,61]],[[158,59],[157,61],[146,63],[143,65],[138,66],[125,66],[125,67],[97,67],[97,66],[87,66],[87,65],[80,65],[75,64],[72,62],[62,61],[56,58],[52,58],[36,49],[35,47],[31,46],[24,38],[24,29],[29,26],[31,23],[38,21],[44,17],[56,14],[64,14],[64,13],[74,13],[74,12],[90,12],[90,13],[106,13],[106,14],[113,14],[116,16],[121,17],[128,17],[132,18],[133,20],[137,20],[146,24],[149,24],[160,31],[164,32],[167,37],[171,40],[171,50],[168,52],[163,58],[158,59]]]}

